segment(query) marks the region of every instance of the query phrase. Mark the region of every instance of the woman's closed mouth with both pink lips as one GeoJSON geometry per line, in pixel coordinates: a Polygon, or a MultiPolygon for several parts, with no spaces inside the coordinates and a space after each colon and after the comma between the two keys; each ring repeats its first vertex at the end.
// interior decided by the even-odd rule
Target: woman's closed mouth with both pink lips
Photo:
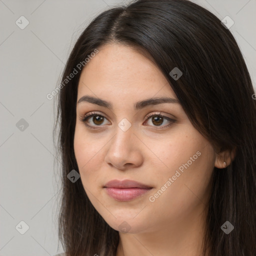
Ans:
{"type": "Polygon", "coordinates": [[[132,200],[149,190],[153,187],[142,184],[134,180],[110,180],[107,182],[103,188],[106,193],[117,201],[129,201],[132,200]]]}

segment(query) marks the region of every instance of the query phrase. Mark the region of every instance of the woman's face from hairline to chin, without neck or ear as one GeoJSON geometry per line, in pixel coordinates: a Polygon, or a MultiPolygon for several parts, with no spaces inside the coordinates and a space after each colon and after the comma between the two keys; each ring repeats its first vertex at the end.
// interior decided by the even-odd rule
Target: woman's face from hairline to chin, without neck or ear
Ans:
{"type": "Polygon", "coordinates": [[[91,98],[77,103],[74,134],[88,198],[119,231],[189,223],[209,196],[213,147],[192,126],[151,60],[123,45],[98,50],[79,79],[77,102],[91,98]],[[155,101],[162,97],[170,102],[155,101]],[[91,112],[94,117],[80,120],[91,112]],[[117,182],[105,187],[108,181],[127,179],[144,186],[123,183],[120,188],[117,182]]]}

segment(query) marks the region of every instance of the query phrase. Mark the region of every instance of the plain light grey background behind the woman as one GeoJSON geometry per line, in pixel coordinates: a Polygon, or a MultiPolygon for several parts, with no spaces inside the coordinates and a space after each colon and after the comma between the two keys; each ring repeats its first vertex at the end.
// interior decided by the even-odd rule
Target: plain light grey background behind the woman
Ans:
{"type": "MultiPolygon", "coordinates": [[[[120,2],[127,1],[0,0],[0,255],[63,251],[60,244],[57,248],[60,184],[53,164],[54,101],[46,94],[58,84],[68,54],[88,22],[120,2]],[[29,21],[24,29],[15,23],[21,15],[29,21]],[[21,118],[28,127],[16,125],[21,118]],[[24,234],[18,232],[24,230],[21,220],[29,226],[24,234]]],[[[256,0],[194,2],[219,19],[228,15],[234,20],[229,29],[255,86],[256,0]]]]}

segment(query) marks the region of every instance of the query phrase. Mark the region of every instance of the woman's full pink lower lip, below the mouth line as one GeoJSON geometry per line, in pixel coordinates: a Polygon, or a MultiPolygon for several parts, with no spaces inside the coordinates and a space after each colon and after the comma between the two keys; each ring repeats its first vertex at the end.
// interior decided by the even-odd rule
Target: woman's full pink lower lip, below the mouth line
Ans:
{"type": "Polygon", "coordinates": [[[151,190],[151,188],[137,188],[137,187],[132,187],[132,188],[105,187],[105,189],[108,195],[110,195],[111,197],[113,197],[118,201],[129,201],[151,190]]]}

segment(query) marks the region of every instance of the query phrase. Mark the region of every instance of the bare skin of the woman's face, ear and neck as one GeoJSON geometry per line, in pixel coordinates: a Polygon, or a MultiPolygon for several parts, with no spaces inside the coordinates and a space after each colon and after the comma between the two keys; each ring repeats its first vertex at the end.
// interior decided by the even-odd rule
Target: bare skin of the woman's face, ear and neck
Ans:
{"type": "Polygon", "coordinates": [[[85,101],[77,104],[74,152],[88,198],[119,231],[116,255],[200,255],[211,174],[214,166],[223,168],[224,161],[226,166],[230,163],[227,152],[215,153],[179,103],[134,109],[135,102],[150,97],[177,97],[151,57],[131,46],[99,48],[80,75],[77,101],[84,95],[113,105],[108,109],[85,101]],[[93,122],[92,117],[87,120],[97,129],[80,120],[90,111],[104,116],[101,122],[93,122]],[[167,127],[170,121],[163,119],[157,126],[152,116],[147,118],[154,112],[175,122],[167,127]],[[126,131],[118,126],[123,118],[131,124],[126,131]],[[197,151],[200,156],[151,202],[149,196],[197,151]],[[130,201],[117,201],[103,188],[112,179],[131,179],[152,189],[130,201]],[[120,231],[120,225],[127,232],[120,231]]]}

